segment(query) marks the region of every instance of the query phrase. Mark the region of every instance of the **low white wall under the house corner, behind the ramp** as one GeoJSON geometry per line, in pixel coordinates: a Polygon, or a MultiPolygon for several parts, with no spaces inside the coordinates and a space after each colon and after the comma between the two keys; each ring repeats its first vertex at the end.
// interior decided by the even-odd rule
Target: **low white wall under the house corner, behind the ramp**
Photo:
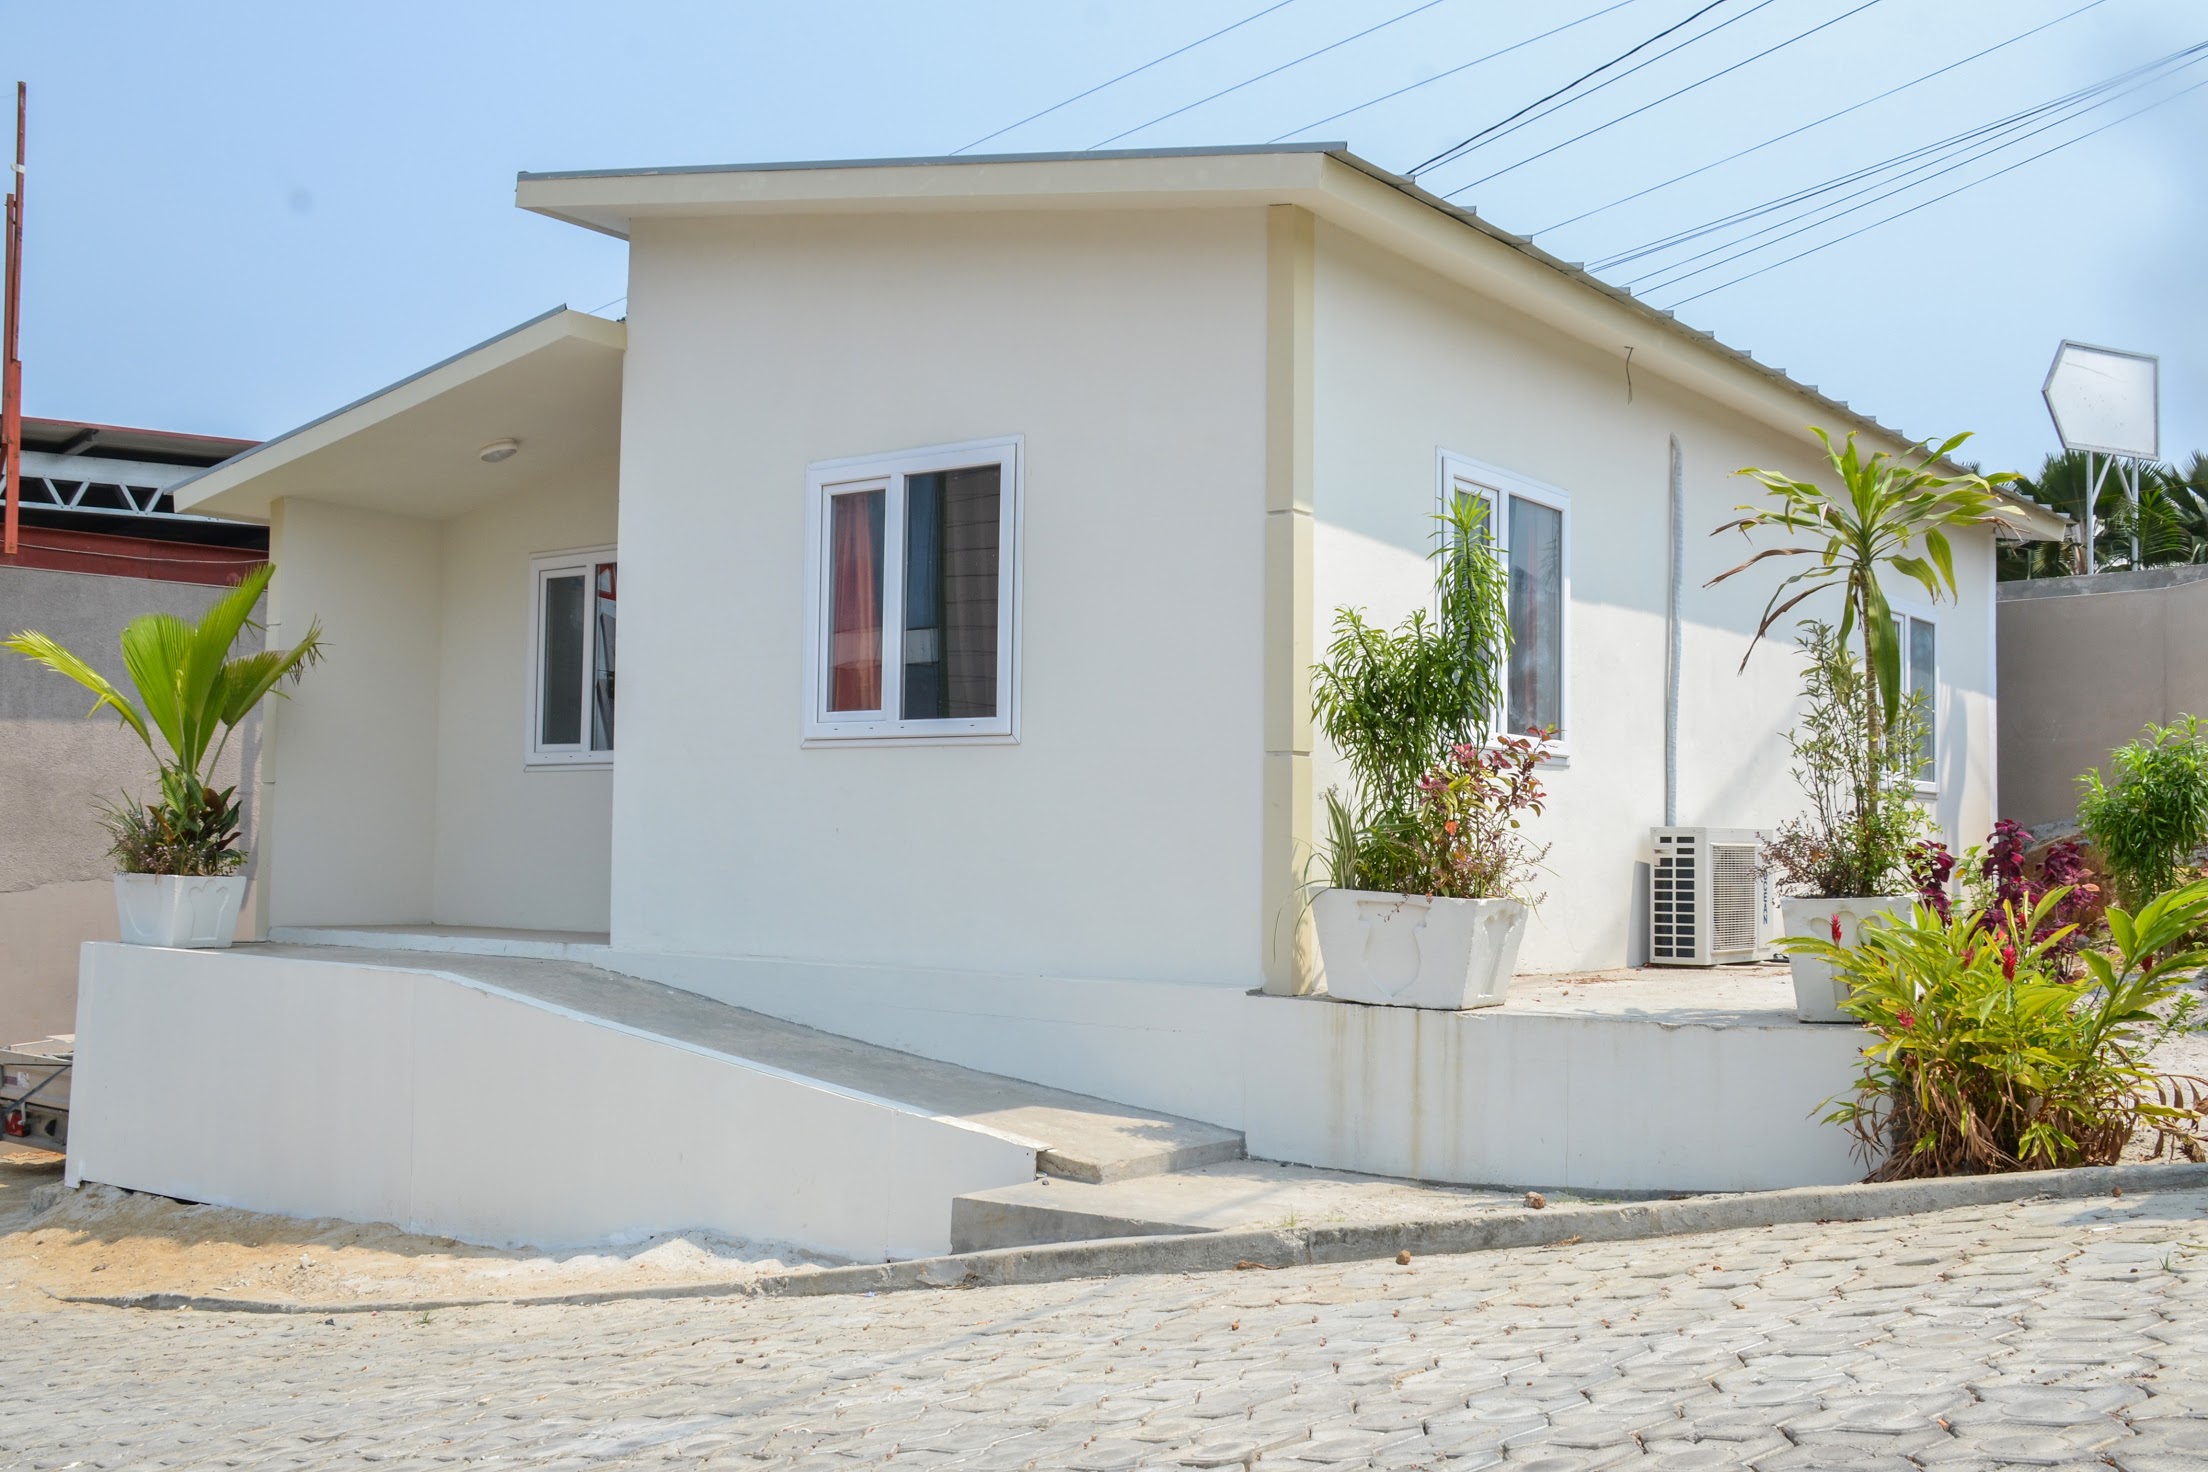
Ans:
{"type": "Polygon", "coordinates": [[[1864,1176],[1826,1099],[1861,1031],[609,951],[828,1033],[1243,1130],[1250,1154],[1466,1185],[1735,1192],[1864,1176]]]}

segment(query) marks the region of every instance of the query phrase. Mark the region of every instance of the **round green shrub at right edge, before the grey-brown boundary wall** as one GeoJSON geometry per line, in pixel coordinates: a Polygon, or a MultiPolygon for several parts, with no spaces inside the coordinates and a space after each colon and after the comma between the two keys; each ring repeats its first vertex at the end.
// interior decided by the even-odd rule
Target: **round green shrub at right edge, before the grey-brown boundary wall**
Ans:
{"type": "Polygon", "coordinates": [[[2115,786],[2100,772],[2078,779],[2078,823],[2117,896],[2140,905],[2177,883],[2179,870],[2208,843],[2208,735],[2184,715],[2148,726],[2137,742],[2109,753],[2115,786]]]}

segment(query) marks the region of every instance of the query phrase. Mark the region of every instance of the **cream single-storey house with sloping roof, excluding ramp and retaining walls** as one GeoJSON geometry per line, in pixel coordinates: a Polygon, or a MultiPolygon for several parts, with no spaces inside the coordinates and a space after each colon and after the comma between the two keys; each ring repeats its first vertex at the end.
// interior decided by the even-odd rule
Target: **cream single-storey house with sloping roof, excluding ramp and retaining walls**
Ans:
{"type": "MultiPolygon", "coordinates": [[[[1307,666],[1338,605],[1429,596],[1446,486],[1499,499],[1510,722],[1561,726],[1528,969],[1638,956],[1674,532],[1676,817],[1797,806],[1795,662],[1735,673],[1766,589],[1705,589],[1740,556],[1707,532],[1740,466],[1815,474],[1808,424],[1901,437],[1338,148],[519,203],[629,241],[625,322],[554,311],[179,488],[272,523],[278,620],[338,649],[265,764],[276,927],[1292,989],[1338,777],[1307,666]]],[[[1994,812],[1992,552],[1912,607],[1956,839],[1994,812]]]]}

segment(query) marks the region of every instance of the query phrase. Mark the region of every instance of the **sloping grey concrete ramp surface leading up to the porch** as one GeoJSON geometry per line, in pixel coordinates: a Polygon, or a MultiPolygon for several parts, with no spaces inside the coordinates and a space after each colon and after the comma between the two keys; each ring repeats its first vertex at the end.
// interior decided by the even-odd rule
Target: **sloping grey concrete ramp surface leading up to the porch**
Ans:
{"type": "Polygon", "coordinates": [[[450,927],[428,942],[437,949],[404,949],[404,936],[400,927],[389,927],[364,947],[272,942],[236,951],[448,971],[640,1033],[1016,1137],[1033,1145],[1036,1170],[1069,1183],[1130,1181],[1239,1161],[1243,1154],[1239,1130],[837,1037],[581,960],[530,953],[514,938],[499,936],[492,940],[497,951],[477,953],[459,949],[455,940],[461,934],[450,927]]]}

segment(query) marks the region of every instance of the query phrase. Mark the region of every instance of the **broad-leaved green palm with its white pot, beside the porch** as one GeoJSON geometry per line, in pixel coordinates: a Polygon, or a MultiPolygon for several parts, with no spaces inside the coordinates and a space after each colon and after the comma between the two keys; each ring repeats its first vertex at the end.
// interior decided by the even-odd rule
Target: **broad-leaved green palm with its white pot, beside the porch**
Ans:
{"type": "Polygon", "coordinates": [[[243,825],[236,788],[216,788],[214,768],[254,706],[322,658],[320,625],[291,649],[230,653],[274,572],[263,565],[245,574],[199,622],[146,614],[124,625],[124,669],[137,702],[44,633],[0,640],[88,689],[95,697],[88,715],[115,711],[152,753],[159,797],[148,803],[126,797],[104,817],[117,867],[117,920],[130,945],[203,949],[227,947],[236,936],[245,900],[243,825]]]}

